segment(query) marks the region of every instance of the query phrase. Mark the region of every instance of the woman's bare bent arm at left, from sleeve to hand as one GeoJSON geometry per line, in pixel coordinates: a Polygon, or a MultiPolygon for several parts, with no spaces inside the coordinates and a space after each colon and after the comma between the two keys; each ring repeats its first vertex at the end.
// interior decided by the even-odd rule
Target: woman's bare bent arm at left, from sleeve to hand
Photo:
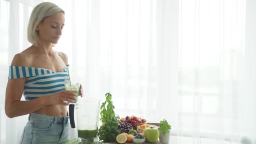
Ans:
{"type": "Polygon", "coordinates": [[[8,80],[5,93],[5,114],[10,117],[27,115],[47,105],[68,105],[63,101],[74,102],[75,93],[71,91],[59,91],[30,101],[21,101],[24,90],[25,78],[8,80]]]}

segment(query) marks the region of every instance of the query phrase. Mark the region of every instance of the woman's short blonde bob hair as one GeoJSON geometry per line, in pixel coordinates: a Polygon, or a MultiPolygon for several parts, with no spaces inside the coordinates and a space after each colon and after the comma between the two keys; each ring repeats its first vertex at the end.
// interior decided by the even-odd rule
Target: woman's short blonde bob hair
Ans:
{"type": "Polygon", "coordinates": [[[35,6],[30,15],[29,24],[27,26],[27,39],[29,43],[32,43],[32,45],[35,45],[36,47],[40,45],[40,40],[36,31],[37,25],[43,22],[46,17],[59,12],[65,14],[65,12],[54,3],[43,2],[35,6]]]}

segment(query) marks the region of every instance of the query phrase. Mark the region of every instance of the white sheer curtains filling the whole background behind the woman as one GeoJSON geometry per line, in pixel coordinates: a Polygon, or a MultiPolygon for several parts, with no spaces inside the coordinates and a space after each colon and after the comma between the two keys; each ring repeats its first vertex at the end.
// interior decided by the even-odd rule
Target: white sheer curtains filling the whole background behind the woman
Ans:
{"type": "MultiPolygon", "coordinates": [[[[27,115],[4,112],[8,66],[29,46],[44,0],[0,0],[0,143],[19,142],[27,115]]],[[[112,93],[120,117],[166,118],[171,135],[256,144],[256,2],[49,0],[66,12],[57,51],[85,96],[112,93]]],[[[71,138],[76,137],[71,130],[71,138]]]]}

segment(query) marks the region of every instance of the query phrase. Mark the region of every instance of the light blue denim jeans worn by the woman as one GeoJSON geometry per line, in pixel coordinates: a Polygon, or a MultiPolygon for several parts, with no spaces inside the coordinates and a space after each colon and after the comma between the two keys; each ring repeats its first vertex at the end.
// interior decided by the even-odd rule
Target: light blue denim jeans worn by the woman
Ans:
{"type": "Polygon", "coordinates": [[[29,114],[20,144],[61,144],[69,140],[69,117],[29,114]]]}

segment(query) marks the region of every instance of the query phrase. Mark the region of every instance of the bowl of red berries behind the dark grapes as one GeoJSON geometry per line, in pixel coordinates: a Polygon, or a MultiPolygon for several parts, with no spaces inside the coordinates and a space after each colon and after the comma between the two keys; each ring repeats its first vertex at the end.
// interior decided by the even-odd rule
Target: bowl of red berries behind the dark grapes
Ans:
{"type": "Polygon", "coordinates": [[[147,120],[141,117],[136,117],[134,115],[126,116],[125,118],[120,118],[120,123],[128,123],[133,126],[134,130],[137,130],[138,125],[147,125],[147,120]]]}

